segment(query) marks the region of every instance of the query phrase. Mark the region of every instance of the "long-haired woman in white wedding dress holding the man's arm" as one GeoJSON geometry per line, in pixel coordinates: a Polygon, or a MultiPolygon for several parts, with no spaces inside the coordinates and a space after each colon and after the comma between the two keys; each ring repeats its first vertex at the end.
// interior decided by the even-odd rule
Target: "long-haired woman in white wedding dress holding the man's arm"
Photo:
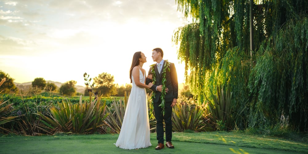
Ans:
{"type": "Polygon", "coordinates": [[[115,145],[123,149],[139,149],[152,146],[150,142],[150,124],[148,119],[148,100],[145,88],[152,87],[152,83],[145,84],[146,74],[142,68],[147,62],[144,53],[138,51],[132,59],[130,79],[132,90],[128,98],[127,107],[115,145]]]}

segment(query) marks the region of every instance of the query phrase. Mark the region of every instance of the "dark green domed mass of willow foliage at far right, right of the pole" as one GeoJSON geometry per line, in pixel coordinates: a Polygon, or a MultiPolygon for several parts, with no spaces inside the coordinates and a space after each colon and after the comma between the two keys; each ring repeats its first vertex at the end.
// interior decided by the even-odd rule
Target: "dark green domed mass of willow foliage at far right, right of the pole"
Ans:
{"type": "Polygon", "coordinates": [[[308,18],[290,19],[264,41],[250,78],[255,99],[250,125],[280,124],[308,128],[308,18]]]}

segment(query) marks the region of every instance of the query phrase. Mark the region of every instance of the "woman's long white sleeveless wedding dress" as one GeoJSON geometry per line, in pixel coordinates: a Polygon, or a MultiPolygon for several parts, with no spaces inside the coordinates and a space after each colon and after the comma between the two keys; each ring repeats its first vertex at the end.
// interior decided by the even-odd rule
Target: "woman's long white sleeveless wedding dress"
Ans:
{"type": "MultiPolygon", "coordinates": [[[[144,83],[146,79],[140,69],[139,79],[141,83],[144,83]]],[[[133,76],[132,90],[128,98],[120,135],[115,145],[123,149],[139,149],[152,145],[146,91],[145,88],[136,86],[133,76]]]]}

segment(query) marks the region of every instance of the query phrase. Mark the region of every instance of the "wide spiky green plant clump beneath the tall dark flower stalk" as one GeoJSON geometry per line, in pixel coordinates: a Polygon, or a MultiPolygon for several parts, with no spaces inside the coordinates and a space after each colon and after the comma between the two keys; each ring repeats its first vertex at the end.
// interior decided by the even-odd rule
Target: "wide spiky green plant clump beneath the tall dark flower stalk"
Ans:
{"type": "Polygon", "coordinates": [[[103,120],[106,119],[106,102],[102,102],[102,95],[91,100],[90,102],[82,102],[80,96],[79,103],[71,104],[63,101],[58,103],[59,108],[53,106],[50,108],[51,118],[39,113],[42,117],[41,129],[49,134],[56,132],[67,132],[76,134],[89,134],[97,132],[104,125],[103,120]]]}

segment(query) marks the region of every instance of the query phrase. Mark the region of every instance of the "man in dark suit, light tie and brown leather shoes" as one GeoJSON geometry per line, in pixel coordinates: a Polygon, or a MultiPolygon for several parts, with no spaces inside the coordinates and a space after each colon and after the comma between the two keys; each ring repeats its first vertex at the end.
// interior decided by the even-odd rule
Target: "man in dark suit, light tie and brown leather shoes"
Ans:
{"type": "Polygon", "coordinates": [[[171,143],[172,139],[172,107],[175,106],[178,96],[178,83],[177,74],[174,63],[163,60],[164,52],[160,48],[155,48],[152,50],[152,59],[156,62],[152,65],[148,72],[148,78],[146,79],[146,84],[153,82],[152,79],[156,79],[154,85],[150,88],[154,94],[155,98],[152,100],[154,104],[154,115],[156,119],[156,138],[158,140],[158,145],[155,148],[160,150],[164,148],[164,125],[165,122],[165,132],[166,132],[166,146],[168,148],[174,148],[171,143]],[[165,68],[166,67],[166,68],[165,68]],[[169,69],[168,69],[169,68],[169,69]],[[155,72],[155,77],[154,73],[155,72]],[[164,77],[165,76],[165,77],[164,77]],[[165,78],[165,80],[163,80],[165,78]],[[166,87],[166,94],[162,98],[163,85],[166,87]],[[164,115],[162,113],[163,109],[160,106],[164,100],[164,115]]]}

